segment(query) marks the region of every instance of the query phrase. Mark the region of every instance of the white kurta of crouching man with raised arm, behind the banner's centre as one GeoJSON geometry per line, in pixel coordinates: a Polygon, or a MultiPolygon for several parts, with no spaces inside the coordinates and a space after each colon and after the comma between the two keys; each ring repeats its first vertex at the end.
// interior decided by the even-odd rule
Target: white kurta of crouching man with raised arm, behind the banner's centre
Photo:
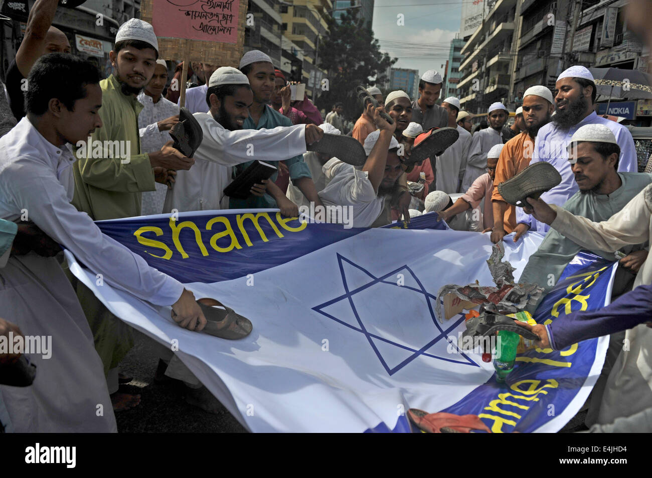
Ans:
{"type": "Polygon", "coordinates": [[[319,193],[324,206],[353,206],[354,228],[368,228],[378,219],[385,196],[378,196],[369,173],[331,158],[323,165],[326,187],[319,193]]]}

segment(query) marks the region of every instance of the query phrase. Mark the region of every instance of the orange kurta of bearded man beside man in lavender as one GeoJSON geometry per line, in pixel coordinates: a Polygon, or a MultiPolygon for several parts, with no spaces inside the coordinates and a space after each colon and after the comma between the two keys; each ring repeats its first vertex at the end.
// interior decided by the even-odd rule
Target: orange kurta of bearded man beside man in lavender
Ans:
{"type": "MultiPolygon", "coordinates": [[[[534,140],[527,133],[520,133],[520,135],[513,137],[505,143],[498,158],[498,165],[496,166],[496,178],[494,178],[494,185],[496,187],[494,187],[494,193],[492,194],[492,202],[503,201],[503,196],[498,192],[497,186],[527,168],[532,159],[533,151],[534,140]]],[[[516,228],[516,206],[507,204],[503,224],[505,224],[505,232],[508,234],[516,228]]]]}

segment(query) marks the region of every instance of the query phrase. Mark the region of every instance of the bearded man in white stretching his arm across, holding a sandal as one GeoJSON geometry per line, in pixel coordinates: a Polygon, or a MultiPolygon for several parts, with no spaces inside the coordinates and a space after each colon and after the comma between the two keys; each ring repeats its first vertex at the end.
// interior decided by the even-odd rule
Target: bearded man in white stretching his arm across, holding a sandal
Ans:
{"type": "MultiPolygon", "coordinates": [[[[209,113],[194,114],[203,132],[194,154],[196,165],[190,171],[177,172],[174,187],[166,196],[164,213],[172,209],[228,209],[229,198],[223,191],[231,182],[231,166],[251,161],[252,153],[254,159],[260,157],[266,163],[303,155],[308,144],[323,137],[323,130],[314,124],[243,129],[254,94],[248,78],[230,66],[222,66],[211,75],[206,102],[209,113]]],[[[256,188],[252,194],[260,195],[261,191],[256,188]]]]}

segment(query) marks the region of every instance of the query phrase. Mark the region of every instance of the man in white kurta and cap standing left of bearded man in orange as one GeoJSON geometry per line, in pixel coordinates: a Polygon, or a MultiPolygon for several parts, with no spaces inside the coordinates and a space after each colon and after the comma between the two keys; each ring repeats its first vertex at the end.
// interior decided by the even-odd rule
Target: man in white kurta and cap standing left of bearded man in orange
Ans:
{"type": "Polygon", "coordinates": [[[473,181],[484,174],[487,164],[487,153],[496,144],[503,144],[503,126],[507,121],[509,111],[503,103],[492,103],[487,112],[489,127],[473,133],[469,158],[466,161],[466,172],[462,180],[462,189],[466,191],[473,181]]]}

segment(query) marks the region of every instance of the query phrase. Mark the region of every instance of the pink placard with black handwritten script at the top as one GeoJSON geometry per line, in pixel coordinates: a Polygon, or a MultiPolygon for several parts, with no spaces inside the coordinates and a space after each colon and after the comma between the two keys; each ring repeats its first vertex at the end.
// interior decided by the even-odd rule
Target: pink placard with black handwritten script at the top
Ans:
{"type": "Polygon", "coordinates": [[[236,43],[239,0],[156,0],[156,36],[236,43]]]}

